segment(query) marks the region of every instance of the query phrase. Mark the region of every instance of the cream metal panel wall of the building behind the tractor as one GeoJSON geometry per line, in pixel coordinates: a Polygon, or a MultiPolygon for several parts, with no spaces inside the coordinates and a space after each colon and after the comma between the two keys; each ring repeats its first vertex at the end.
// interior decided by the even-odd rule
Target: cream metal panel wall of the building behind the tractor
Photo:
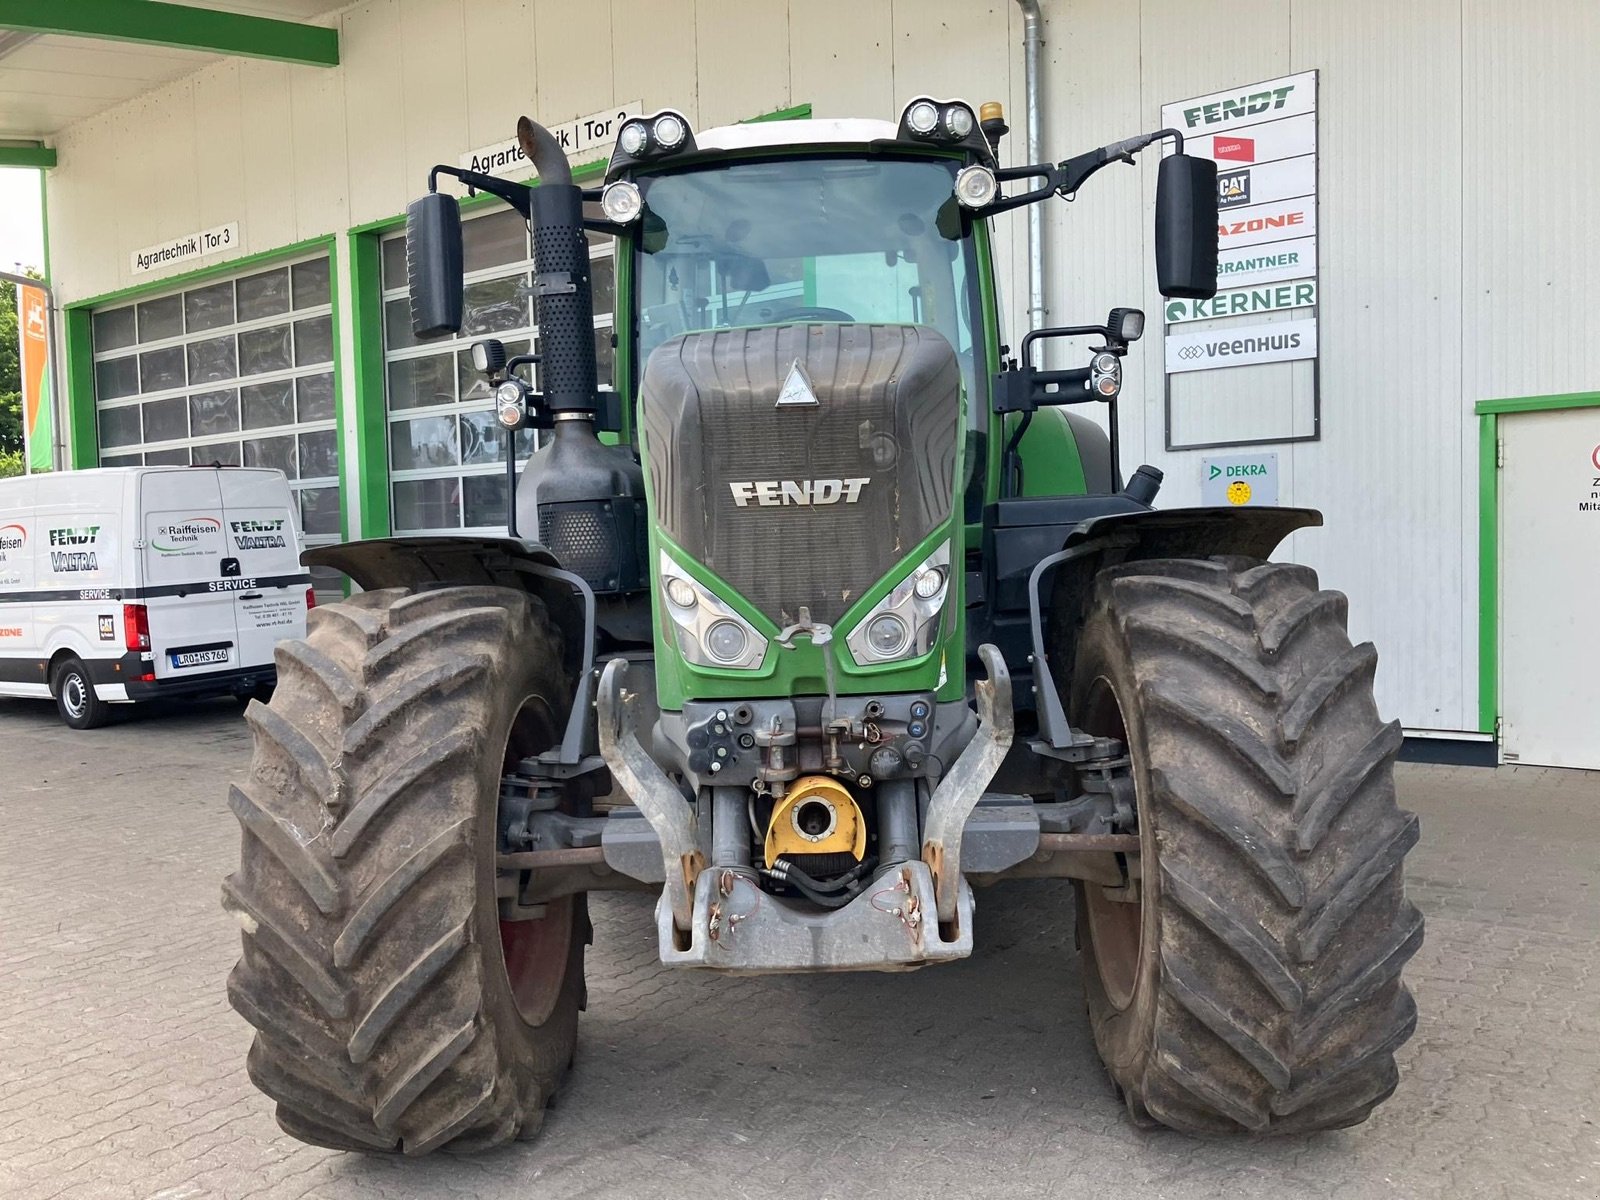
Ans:
{"type": "MultiPolygon", "coordinates": [[[[1600,154],[1586,130],[1600,110],[1600,5],[1043,6],[1056,160],[1154,128],[1163,102],[1320,72],[1323,437],[1277,450],[1282,502],[1322,507],[1328,528],[1296,534],[1290,554],[1350,594],[1352,632],[1382,651],[1386,714],[1474,728],[1472,403],[1600,374],[1586,286],[1600,280],[1600,154]]],[[[378,0],[339,21],[338,70],[229,61],[59,139],[50,229],[67,301],[158,278],[131,277],[128,253],[224,221],[258,253],[392,216],[432,163],[509,136],[520,112],[560,122],[640,98],[706,126],[797,102],[893,115],[930,91],[1006,99],[1008,154],[1021,154],[1011,0],[378,0]]],[[[1154,179],[1154,158],[1115,166],[1051,206],[1046,296],[1058,322],[1128,302],[1152,314],[1130,357],[1126,466],[1163,467],[1163,499],[1194,504],[1200,451],[1163,450],[1154,179]]],[[[1013,326],[1026,317],[1022,222],[1002,221],[1013,326]]]]}

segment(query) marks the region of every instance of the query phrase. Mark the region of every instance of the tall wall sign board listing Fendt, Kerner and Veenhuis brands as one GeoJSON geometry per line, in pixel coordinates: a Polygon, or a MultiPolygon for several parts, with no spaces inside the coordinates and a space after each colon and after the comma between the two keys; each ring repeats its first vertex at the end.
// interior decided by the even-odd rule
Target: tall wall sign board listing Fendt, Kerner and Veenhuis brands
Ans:
{"type": "MultiPolygon", "coordinates": [[[[1206,406],[1229,394],[1226,382],[1190,382],[1174,390],[1171,376],[1317,357],[1317,72],[1163,104],[1162,125],[1181,130],[1184,152],[1211,158],[1218,168],[1218,294],[1163,306],[1171,438],[1174,403],[1187,406],[1186,427],[1200,429],[1208,421],[1202,416],[1206,406]]],[[[1264,386],[1261,379],[1242,386],[1264,386]]],[[[1270,411],[1277,410],[1259,410],[1270,411]]],[[[1186,435],[1184,443],[1290,440],[1302,426],[1293,424],[1288,408],[1283,411],[1282,429],[1258,418],[1261,427],[1251,426],[1248,434],[1230,432],[1226,440],[1186,435]]],[[[1214,462],[1226,472],[1222,459],[1214,462]]],[[[1275,474],[1270,494],[1275,501],[1275,474]]],[[[1229,499],[1221,491],[1216,496],[1208,502],[1229,499]]]]}

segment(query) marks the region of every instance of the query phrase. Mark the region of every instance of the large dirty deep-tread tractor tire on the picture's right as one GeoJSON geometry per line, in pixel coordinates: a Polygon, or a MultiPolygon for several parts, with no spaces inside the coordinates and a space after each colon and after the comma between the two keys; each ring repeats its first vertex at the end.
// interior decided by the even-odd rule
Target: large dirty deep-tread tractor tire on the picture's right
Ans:
{"type": "Polygon", "coordinates": [[[1416,1027],[1422,942],[1395,805],[1398,722],[1346,598],[1246,558],[1102,571],[1074,725],[1128,744],[1138,893],[1078,883],[1094,1042],[1134,1122],[1202,1134],[1355,1125],[1416,1027]]]}

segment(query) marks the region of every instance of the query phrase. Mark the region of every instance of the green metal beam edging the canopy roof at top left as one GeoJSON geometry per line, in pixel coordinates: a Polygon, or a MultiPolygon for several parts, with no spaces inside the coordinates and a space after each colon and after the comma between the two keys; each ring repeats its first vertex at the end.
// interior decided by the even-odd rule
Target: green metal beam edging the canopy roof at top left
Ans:
{"type": "Polygon", "coordinates": [[[0,0],[0,29],[339,66],[339,30],[162,0],[0,0]]]}

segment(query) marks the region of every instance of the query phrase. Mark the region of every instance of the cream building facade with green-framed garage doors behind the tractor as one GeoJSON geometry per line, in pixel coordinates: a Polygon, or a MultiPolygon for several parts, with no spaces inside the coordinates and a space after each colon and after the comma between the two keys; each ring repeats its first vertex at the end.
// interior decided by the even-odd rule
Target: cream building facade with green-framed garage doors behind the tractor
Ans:
{"type": "MultiPolygon", "coordinates": [[[[1285,234],[1315,245],[1309,270],[1277,278],[1312,291],[1286,290],[1283,306],[1246,296],[1266,306],[1254,317],[1178,314],[1165,330],[1157,155],[1045,208],[1046,320],[1098,322],[1112,304],[1150,317],[1128,358],[1123,469],[1155,464],[1163,504],[1198,504],[1210,464],[1270,456],[1277,502],[1326,517],[1283,554],[1349,594],[1352,635],[1381,651],[1387,715],[1480,744],[1504,718],[1507,757],[1600,766],[1581,728],[1555,749],[1528,741],[1554,718],[1539,704],[1600,699],[1600,669],[1587,674],[1600,662],[1534,666],[1526,653],[1536,635],[1568,635],[1538,629],[1568,613],[1539,597],[1581,603],[1600,541],[1578,547],[1587,566],[1576,574],[1507,579],[1520,544],[1507,494],[1552,472],[1565,480],[1568,466],[1565,451],[1498,466],[1507,435],[1560,410],[1570,427],[1530,445],[1570,442],[1574,462],[1595,446],[1600,477],[1600,322],[1587,302],[1600,282],[1587,219],[1600,150],[1581,136],[1600,110],[1600,6],[1043,0],[1042,11],[1046,158],[1158,128],[1163,109],[1182,122],[1187,107],[1190,139],[1211,138],[1219,163],[1235,155],[1224,166],[1248,168],[1258,189],[1312,181],[1275,184],[1299,189],[1288,200],[1314,237],[1285,234]],[[1251,98],[1290,78],[1315,88],[1312,123],[1296,126],[1314,141],[1269,162],[1290,126],[1251,98]],[[1206,102],[1221,130],[1250,134],[1243,150],[1206,131],[1206,102]],[[1232,331],[1307,320],[1315,357],[1168,370],[1163,334],[1245,346],[1232,331]],[[1550,670],[1571,677],[1541,696],[1550,670]]],[[[278,466],[310,542],[499,523],[502,435],[464,349],[485,333],[536,342],[526,229],[494,205],[469,208],[467,330],[445,344],[410,336],[400,230],[434,163],[502,142],[520,114],[555,125],[670,106],[706,128],[894,117],[917,94],[998,99],[1013,125],[1002,160],[1024,160],[1024,16],[1011,0],[373,0],[312,21],[338,30],[336,66],[208,61],[48,138],[70,462],[278,466]]],[[[597,142],[573,160],[605,155],[597,142]]],[[[1238,205],[1248,211],[1290,219],[1278,202],[1238,205]]],[[[1227,224],[1240,245],[1290,240],[1266,222],[1251,240],[1248,216],[1227,224]]],[[[1027,216],[998,218],[995,232],[1016,346],[1030,304],[1027,216]]],[[[592,254],[610,382],[610,243],[597,238],[592,254]]],[[[1565,493],[1530,504],[1571,507],[1565,493]]],[[[1600,539],[1600,512],[1573,528],[1600,539]]]]}

